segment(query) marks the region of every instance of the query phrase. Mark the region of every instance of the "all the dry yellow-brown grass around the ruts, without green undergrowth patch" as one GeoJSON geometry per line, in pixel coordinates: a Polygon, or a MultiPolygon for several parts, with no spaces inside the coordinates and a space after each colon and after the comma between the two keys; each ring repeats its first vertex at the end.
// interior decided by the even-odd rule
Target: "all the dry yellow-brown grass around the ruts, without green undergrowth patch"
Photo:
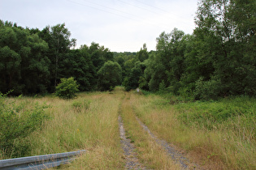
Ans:
{"type": "Polygon", "coordinates": [[[244,142],[245,132],[242,127],[239,129],[241,135],[237,136],[237,132],[227,130],[224,124],[218,130],[185,126],[176,119],[179,113],[159,96],[141,96],[132,92],[124,95],[124,91],[119,88],[112,94],[80,93],[74,100],[46,96],[22,97],[17,102],[23,102],[24,109],[33,107],[32,104],[36,102],[50,105],[45,110],[52,118],[44,123],[42,130],[29,136],[32,146],[29,155],[87,151],[85,155],[61,168],[124,168],[124,151],[119,138],[119,113],[123,117],[126,134],[134,142],[138,158],[147,168],[180,167],[145,133],[135,115],[158,138],[176,145],[178,150],[202,168],[240,169],[243,165],[245,169],[256,168],[255,142],[252,139],[244,142]],[[80,108],[75,108],[75,105],[80,108]]]}

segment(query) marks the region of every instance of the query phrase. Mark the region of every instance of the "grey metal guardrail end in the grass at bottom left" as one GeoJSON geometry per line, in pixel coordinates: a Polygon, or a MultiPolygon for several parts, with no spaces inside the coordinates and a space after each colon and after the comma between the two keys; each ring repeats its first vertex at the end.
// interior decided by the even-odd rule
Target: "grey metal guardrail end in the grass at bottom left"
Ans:
{"type": "Polygon", "coordinates": [[[58,167],[60,164],[67,164],[74,160],[76,155],[85,153],[85,150],[71,151],[60,154],[28,156],[15,159],[0,160],[0,169],[45,169],[58,167]]]}

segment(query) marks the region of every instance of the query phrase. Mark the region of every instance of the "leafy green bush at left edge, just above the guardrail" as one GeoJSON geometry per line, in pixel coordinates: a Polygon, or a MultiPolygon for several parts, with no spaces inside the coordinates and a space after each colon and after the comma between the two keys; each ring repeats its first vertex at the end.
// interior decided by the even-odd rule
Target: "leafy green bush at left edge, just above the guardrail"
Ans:
{"type": "Polygon", "coordinates": [[[7,101],[6,95],[0,92],[0,151],[3,157],[21,157],[28,154],[29,134],[40,130],[43,121],[50,117],[44,108],[48,106],[34,104],[26,108],[19,100],[7,101]]]}

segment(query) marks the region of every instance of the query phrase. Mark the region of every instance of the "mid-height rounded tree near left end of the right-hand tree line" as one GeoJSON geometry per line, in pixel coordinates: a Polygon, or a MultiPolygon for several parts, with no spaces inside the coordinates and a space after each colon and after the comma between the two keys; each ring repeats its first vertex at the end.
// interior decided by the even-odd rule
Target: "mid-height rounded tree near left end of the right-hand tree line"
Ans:
{"type": "Polygon", "coordinates": [[[184,73],[184,32],[174,28],[170,33],[162,32],[157,38],[158,53],[150,57],[150,91],[158,91],[160,83],[177,94],[184,73]]]}

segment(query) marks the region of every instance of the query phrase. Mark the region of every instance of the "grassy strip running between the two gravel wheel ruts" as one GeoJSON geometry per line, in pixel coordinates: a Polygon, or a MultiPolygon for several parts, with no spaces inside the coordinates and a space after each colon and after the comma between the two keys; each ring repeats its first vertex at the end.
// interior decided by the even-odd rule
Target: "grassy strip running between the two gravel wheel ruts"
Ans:
{"type": "Polygon", "coordinates": [[[180,169],[170,156],[160,147],[149,134],[142,129],[133,113],[130,104],[130,95],[127,93],[121,104],[120,114],[123,117],[124,129],[127,138],[131,138],[137,150],[137,157],[146,168],[156,169],[180,169]]]}

